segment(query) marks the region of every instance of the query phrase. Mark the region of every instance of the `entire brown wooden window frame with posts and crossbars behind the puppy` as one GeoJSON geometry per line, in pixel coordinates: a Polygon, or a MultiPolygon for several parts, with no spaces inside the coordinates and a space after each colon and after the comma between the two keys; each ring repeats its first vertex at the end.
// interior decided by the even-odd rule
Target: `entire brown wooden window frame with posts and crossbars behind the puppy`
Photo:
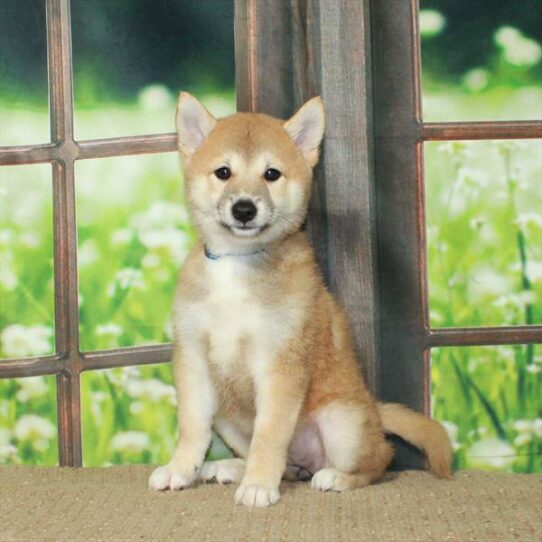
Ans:
{"type": "MultiPolygon", "coordinates": [[[[542,122],[424,123],[417,0],[235,0],[237,105],[288,117],[320,94],[327,110],[309,235],[346,309],[369,387],[430,410],[430,349],[542,342],[542,326],[431,328],[423,144],[542,137],[542,122]]],[[[175,134],[76,141],[69,0],[46,0],[51,143],[0,148],[0,165],[51,163],[55,351],[0,360],[0,377],[56,375],[60,465],[82,465],[83,371],[160,363],[169,344],[81,352],[76,160],[174,152],[175,134]]],[[[400,467],[421,456],[399,446],[400,467]]]]}

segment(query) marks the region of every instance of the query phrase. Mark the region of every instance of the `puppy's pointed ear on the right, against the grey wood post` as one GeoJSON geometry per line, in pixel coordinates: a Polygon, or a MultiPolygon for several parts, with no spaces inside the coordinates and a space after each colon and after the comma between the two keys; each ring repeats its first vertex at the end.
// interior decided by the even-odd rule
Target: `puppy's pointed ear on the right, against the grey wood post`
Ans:
{"type": "Polygon", "coordinates": [[[320,96],[309,100],[283,124],[283,128],[311,167],[318,162],[318,148],[324,135],[324,127],[324,104],[320,96]]]}

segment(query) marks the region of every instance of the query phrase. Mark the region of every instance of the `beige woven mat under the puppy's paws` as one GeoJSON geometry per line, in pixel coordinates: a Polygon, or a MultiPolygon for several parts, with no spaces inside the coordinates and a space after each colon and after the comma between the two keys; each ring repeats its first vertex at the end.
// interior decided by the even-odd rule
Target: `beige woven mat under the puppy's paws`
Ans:
{"type": "Polygon", "coordinates": [[[542,540],[540,475],[408,471],[344,494],[284,483],[276,506],[247,509],[233,486],[150,492],[151,470],[0,467],[0,540],[542,540]]]}

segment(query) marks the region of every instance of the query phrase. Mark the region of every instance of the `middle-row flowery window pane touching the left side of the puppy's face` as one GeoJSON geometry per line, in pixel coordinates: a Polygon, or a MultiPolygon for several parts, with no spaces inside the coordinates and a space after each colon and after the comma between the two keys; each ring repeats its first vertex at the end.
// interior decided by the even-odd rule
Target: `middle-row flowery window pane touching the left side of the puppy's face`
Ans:
{"type": "Polygon", "coordinates": [[[176,154],[76,165],[81,347],[171,340],[177,274],[195,233],[176,154]]]}

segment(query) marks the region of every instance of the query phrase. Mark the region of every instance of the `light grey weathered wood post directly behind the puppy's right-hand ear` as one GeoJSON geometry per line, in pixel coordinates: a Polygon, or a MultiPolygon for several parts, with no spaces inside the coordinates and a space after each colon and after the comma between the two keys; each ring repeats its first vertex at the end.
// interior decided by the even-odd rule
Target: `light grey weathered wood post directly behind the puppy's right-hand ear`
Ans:
{"type": "Polygon", "coordinates": [[[365,377],[378,393],[367,4],[299,0],[293,6],[296,98],[300,103],[320,94],[326,107],[325,144],[308,229],[329,288],[348,314],[365,377]]]}

